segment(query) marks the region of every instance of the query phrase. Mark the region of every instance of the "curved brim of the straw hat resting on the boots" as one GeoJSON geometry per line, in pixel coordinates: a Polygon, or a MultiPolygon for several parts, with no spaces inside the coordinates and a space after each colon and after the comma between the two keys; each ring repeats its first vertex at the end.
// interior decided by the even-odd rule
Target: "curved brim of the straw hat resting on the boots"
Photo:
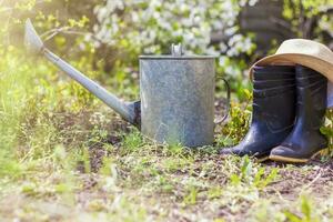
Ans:
{"type": "Polygon", "coordinates": [[[252,80],[252,72],[255,65],[285,64],[285,63],[302,64],[304,67],[311,68],[325,75],[329,79],[329,81],[333,82],[333,63],[327,62],[317,57],[301,54],[301,53],[281,53],[281,54],[273,54],[273,56],[265,57],[259,60],[258,62],[255,62],[250,68],[250,78],[252,80]]]}

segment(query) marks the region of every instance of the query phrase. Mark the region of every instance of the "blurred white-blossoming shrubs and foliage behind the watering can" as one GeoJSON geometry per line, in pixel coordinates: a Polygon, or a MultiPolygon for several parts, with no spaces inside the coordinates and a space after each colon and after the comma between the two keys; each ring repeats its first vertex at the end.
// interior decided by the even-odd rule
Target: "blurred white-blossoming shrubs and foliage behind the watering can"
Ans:
{"type": "Polygon", "coordinates": [[[23,22],[33,19],[48,47],[85,60],[97,78],[132,83],[138,56],[169,53],[182,42],[186,53],[216,54],[219,74],[246,99],[245,70],[285,39],[309,38],[333,48],[332,0],[2,0],[2,47],[22,47],[23,22]]]}

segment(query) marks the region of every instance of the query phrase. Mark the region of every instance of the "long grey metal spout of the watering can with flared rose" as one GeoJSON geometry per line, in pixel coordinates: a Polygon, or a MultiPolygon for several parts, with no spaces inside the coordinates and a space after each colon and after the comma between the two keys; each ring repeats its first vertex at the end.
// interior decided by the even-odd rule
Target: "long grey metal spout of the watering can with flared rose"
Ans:
{"type": "Polygon", "coordinates": [[[58,56],[48,50],[38,33],[36,32],[31,21],[28,19],[26,22],[26,37],[24,43],[30,53],[42,54],[63,72],[65,72],[73,80],[83,85],[87,90],[95,94],[105,104],[118,112],[128,122],[140,127],[140,101],[123,102],[114,94],[108,92],[104,88],[87,78],[75,68],[60,59],[58,56]]]}

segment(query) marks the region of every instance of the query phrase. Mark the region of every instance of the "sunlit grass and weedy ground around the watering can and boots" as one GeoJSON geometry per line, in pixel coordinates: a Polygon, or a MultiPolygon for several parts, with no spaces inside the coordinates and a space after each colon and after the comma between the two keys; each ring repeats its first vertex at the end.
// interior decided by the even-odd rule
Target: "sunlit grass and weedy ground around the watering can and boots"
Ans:
{"type": "MultiPolygon", "coordinates": [[[[1,221],[332,220],[330,157],[276,165],[218,154],[246,132],[249,105],[232,105],[216,147],[157,145],[48,62],[1,50],[1,221]]],[[[331,144],[332,129],[330,111],[331,144]]]]}

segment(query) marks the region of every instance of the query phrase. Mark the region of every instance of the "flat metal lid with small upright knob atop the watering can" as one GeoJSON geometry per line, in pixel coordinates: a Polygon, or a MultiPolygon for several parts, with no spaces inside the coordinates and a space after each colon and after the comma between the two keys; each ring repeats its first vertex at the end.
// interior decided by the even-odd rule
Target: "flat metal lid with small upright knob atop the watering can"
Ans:
{"type": "Polygon", "coordinates": [[[140,56],[140,59],[172,59],[172,60],[192,60],[192,59],[216,59],[215,56],[184,56],[182,44],[172,44],[171,46],[171,54],[162,54],[162,56],[140,56]]]}

